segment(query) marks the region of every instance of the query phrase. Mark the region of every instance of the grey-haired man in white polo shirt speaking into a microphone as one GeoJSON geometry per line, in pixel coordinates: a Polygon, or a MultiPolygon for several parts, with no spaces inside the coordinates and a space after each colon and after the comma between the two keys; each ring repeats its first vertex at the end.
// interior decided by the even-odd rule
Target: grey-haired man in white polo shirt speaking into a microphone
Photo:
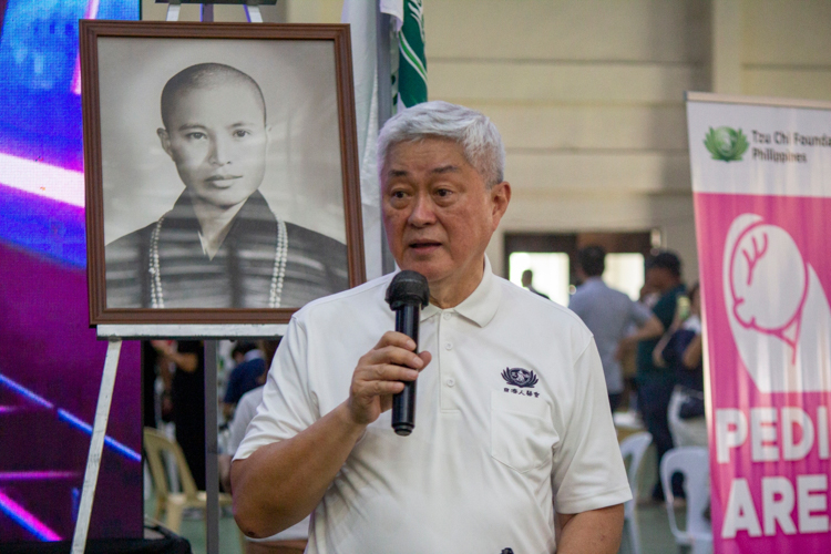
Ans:
{"type": "Polygon", "coordinates": [[[499,132],[429,102],[378,152],[390,249],[430,284],[421,351],[390,330],[391,276],[297,312],[233,462],[237,523],[314,510],[311,553],[616,552],[630,493],[592,335],[484,255],[511,198],[499,132]],[[402,438],[391,397],[416,379],[402,438]]]}

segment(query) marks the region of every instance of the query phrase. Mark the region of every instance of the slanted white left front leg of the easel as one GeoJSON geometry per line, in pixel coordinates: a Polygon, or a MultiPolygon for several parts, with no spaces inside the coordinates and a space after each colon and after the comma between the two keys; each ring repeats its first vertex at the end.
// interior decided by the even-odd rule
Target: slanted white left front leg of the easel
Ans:
{"type": "Polygon", "coordinates": [[[78,510],[75,533],[72,536],[72,554],[83,554],[86,547],[86,533],[90,531],[92,500],[95,496],[95,485],[98,484],[99,469],[101,468],[101,452],[104,449],[106,422],[110,419],[110,406],[113,401],[113,387],[115,386],[115,370],[119,368],[120,356],[121,339],[111,339],[106,346],[104,375],[101,378],[99,403],[95,408],[95,421],[92,425],[92,440],[90,441],[90,455],[86,458],[81,505],[78,510]]]}

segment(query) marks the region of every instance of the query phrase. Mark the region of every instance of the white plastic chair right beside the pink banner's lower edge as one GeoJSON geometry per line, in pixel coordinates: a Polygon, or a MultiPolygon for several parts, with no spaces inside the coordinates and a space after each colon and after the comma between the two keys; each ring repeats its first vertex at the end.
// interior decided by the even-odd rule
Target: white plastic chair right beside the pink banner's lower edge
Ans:
{"type": "Polygon", "coordinates": [[[704,516],[710,501],[710,458],[704,447],[671,449],[660,461],[660,481],[664,484],[669,527],[679,546],[689,546],[690,554],[712,552],[712,527],[704,516]],[[681,531],[675,521],[673,474],[684,475],[687,496],[687,529],[681,531]]]}

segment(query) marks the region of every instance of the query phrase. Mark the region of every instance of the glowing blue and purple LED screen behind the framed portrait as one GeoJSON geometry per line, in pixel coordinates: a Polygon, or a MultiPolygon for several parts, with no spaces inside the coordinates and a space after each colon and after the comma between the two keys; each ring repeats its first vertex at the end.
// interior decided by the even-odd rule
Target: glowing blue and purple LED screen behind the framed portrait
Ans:
{"type": "MultiPolygon", "coordinates": [[[[106,352],[89,328],[78,20],[138,9],[0,0],[0,543],[74,530],[106,352]]],[[[138,350],[122,348],[90,538],[142,535],[138,350]]]]}

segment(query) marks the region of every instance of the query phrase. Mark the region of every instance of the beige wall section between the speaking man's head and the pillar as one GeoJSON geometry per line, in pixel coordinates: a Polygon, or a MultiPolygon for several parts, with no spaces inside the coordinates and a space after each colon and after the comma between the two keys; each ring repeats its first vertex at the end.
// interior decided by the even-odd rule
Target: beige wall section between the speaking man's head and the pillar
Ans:
{"type": "MultiPolygon", "coordinates": [[[[709,88],[701,1],[452,1],[425,8],[430,96],[503,133],[500,229],[659,228],[695,279],[685,90],[709,88]]],[[[489,254],[502,267],[502,237],[489,254]]]]}

